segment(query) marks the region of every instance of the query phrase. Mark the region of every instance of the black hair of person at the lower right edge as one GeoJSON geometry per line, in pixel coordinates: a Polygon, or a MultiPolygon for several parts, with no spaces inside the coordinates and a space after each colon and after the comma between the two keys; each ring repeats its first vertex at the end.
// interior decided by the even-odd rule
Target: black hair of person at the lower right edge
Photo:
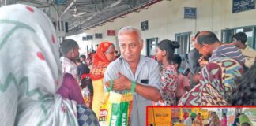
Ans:
{"type": "Polygon", "coordinates": [[[236,87],[230,95],[228,102],[232,106],[255,106],[256,105],[256,63],[235,80],[236,87]]]}

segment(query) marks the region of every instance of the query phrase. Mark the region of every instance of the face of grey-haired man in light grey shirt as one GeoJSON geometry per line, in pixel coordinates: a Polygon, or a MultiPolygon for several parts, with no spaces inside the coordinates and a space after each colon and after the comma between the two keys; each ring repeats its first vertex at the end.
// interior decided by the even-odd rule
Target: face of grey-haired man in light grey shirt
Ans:
{"type": "Polygon", "coordinates": [[[143,47],[143,42],[140,42],[137,32],[127,32],[123,31],[119,35],[119,46],[122,57],[126,59],[127,62],[134,62],[140,60],[141,50],[143,47]]]}

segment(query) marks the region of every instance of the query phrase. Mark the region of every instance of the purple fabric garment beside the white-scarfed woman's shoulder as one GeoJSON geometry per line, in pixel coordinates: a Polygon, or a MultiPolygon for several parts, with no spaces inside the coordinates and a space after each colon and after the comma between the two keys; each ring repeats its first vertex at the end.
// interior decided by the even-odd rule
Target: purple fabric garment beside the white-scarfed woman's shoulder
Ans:
{"type": "Polygon", "coordinates": [[[63,76],[62,87],[58,89],[57,93],[64,98],[76,101],[77,104],[85,105],[77,80],[75,80],[70,73],[65,73],[63,76]]]}

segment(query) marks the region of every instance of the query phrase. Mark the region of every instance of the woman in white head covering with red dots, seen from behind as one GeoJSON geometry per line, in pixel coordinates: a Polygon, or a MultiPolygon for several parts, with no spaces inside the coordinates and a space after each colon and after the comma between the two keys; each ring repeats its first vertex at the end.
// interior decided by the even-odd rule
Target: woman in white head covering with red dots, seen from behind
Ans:
{"type": "Polygon", "coordinates": [[[62,68],[47,15],[31,6],[3,6],[0,36],[0,124],[78,125],[77,109],[85,107],[55,94],[62,68]]]}

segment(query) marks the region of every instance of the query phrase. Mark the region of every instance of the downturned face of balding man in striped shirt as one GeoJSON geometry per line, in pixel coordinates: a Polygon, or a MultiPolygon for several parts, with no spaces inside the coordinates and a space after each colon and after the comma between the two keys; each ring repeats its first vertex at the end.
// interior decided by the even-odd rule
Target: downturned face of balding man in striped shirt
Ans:
{"type": "Polygon", "coordinates": [[[203,44],[200,45],[199,43],[194,43],[194,47],[205,57],[210,57],[212,55],[212,51],[210,50],[210,45],[203,44]]]}

